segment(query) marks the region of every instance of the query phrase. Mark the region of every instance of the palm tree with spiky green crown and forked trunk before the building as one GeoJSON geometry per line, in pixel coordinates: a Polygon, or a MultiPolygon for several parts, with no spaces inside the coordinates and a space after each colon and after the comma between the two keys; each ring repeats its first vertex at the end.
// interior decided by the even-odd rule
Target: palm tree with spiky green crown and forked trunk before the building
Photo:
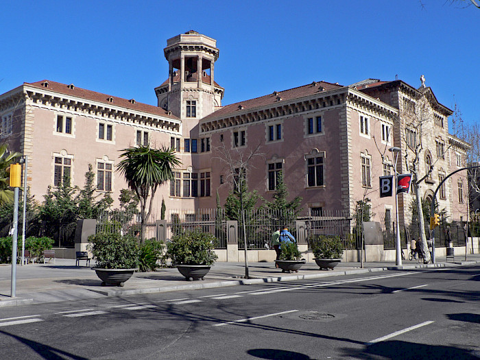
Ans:
{"type": "Polygon", "coordinates": [[[141,243],[145,239],[145,221],[152,213],[152,204],[158,185],[173,179],[173,168],[180,165],[175,150],[163,147],[152,149],[147,146],[128,147],[121,150],[123,160],[117,165],[117,171],[123,173],[128,187],[140,199],[141,243]],[[147,198],[150,197],[147,212],[147,198]]]}

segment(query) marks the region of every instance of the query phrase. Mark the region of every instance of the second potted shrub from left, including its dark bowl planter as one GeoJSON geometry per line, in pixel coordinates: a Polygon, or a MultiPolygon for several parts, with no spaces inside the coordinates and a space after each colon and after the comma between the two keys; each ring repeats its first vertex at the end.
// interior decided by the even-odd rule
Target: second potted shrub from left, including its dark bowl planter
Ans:
{"type": "Polygon", "coordinates": [[[218,258],[213,251],[215,241],[216,238],[206,232],[180,232],[167,243],[167,256],[187,280],[204,280],[218,258]]]}

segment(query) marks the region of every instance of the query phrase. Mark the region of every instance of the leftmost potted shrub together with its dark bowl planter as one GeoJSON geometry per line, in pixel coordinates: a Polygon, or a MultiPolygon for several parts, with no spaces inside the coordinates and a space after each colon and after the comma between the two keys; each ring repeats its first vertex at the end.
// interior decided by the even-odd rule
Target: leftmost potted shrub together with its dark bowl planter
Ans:
{"type": "Polygon", "coordinates": [[[125,281],[138,270],[139,243],[135,237],[100,232],[88,237],[88,242],[88,249],[96,261],[92,269],[101,279],[101,286],[123,287],[125,281]]]}

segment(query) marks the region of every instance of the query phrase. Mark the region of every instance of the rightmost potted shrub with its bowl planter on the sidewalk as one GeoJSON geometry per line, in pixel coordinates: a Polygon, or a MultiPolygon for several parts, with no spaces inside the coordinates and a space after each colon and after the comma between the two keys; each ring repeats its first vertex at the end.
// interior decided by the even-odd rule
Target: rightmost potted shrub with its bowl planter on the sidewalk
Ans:
{"type": "Polygon", "coordinates": [[[315,263],[320,269],[333,269],[341,261],[341,255],[344,253],[344,246],[340,237],[320,236],[317,239],[311,239],[311,248],[315,256],[315,263]]]}

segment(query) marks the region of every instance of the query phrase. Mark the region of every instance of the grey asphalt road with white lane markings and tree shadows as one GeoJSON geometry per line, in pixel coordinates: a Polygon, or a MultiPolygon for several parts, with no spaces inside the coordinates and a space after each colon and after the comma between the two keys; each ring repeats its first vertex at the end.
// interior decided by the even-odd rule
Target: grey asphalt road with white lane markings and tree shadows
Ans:
{"type": "Polygon", "coordinates": [[[1,359],[480,359],[480,265],[0,309],[1,359]]]}

